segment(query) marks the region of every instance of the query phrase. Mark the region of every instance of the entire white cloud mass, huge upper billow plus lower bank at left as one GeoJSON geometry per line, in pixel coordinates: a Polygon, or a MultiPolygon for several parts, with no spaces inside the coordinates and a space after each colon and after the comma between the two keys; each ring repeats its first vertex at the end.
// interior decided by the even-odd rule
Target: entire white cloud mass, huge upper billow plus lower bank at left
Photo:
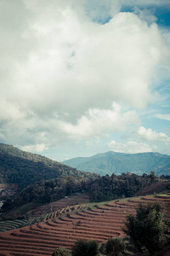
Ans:
{"type": "Polygon", "coordinates": [[[111,6],[111,20],[101,25],[93,21],[101,9],[93,14],[90,2],[1,1],[4,143],[43,150],[139,123],[135,111],[112,103],[144,108],[167,49],[156,24],[105,3],[101,19],[111,6]]]}

